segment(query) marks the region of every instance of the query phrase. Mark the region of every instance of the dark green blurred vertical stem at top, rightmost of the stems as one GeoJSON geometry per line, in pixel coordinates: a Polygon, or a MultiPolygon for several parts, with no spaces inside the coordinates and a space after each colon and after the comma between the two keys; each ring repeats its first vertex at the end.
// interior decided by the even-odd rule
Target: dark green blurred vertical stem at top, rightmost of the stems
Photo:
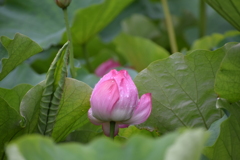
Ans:
{"type": "Polygon", "coordinates": [[[199,23],[199,37],[203,37],[206,34],[206,3],[204,0],[200,0],[200,23],[199,23]]]}

